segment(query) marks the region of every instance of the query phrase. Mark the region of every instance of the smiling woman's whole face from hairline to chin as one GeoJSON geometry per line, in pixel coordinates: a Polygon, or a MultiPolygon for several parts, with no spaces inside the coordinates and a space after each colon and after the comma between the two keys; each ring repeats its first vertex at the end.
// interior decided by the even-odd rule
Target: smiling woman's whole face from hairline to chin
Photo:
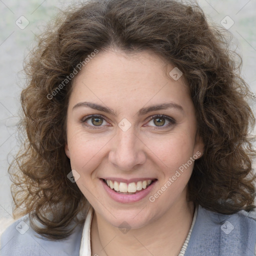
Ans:
{"type": "Polygon", "coordinates": [[[79,189],[114,226],[142,227],[187,203],[203,145],[173,68],[150,51],[109,50],[74,77],[65,152],[79,189]]]}

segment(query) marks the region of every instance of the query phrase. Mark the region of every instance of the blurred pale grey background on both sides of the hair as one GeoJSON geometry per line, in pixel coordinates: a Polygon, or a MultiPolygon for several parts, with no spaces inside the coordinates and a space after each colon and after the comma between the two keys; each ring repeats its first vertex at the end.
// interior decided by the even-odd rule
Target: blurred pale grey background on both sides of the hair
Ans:
{"type": "MultiPolygon", "coordinates": [[[[35,34],[71,2],[0,0],[0,219],[12,214],[7,168],[17,150],[15,125],[19,94],[25,81],[23,58],[34,44],[35,34]]],[[[198,3],[210,22],[225,26],[233,34],[233,45],[243,58],[243,78],[256,95],[256,0],[198,0],[198,3]]]]}

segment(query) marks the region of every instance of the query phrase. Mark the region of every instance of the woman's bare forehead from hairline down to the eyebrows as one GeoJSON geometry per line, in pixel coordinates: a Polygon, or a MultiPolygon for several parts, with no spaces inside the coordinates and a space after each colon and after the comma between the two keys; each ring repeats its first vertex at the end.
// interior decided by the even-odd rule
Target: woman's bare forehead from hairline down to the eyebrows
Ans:
{"type": "Polygon", "coordinates": [[[170,76],[173,68],[149,50],[132,54],[100,51],[75,76],[71,98],[76,101],[94,98],[101,103],[118,101],[126,106],[134,101],[136,104],[191,101],[182,75],[177,80],[170,76]]]}

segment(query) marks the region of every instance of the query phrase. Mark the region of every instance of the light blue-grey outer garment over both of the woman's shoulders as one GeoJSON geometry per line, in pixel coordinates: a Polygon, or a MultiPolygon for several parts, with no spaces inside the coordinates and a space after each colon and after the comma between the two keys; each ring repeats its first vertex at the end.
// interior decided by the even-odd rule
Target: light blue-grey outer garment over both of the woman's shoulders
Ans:
{"type": "MultiPolygon", "coordinates": [[[[78,256],[82,230],[78,225],[66,239],[47,240],[29,226],[25,215],[3,232],[0,256],[78,256]]],[[[199,205],[184,256],[255,256],[255,244],[255,213],[225,215],[199,205]]]]}

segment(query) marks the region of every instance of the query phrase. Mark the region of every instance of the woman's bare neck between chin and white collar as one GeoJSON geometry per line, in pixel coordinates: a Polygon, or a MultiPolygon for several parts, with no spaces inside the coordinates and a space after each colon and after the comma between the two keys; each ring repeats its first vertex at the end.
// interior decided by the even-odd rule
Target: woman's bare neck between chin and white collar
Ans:
{"type": "Polygon", "coordinates": [[[189,232],[194,212],[192,202],[178,201],[161,218],[146,226],[122,233],[93,213],[91,254],[98,256],[168,255],[176,256],[189,232]]]}

